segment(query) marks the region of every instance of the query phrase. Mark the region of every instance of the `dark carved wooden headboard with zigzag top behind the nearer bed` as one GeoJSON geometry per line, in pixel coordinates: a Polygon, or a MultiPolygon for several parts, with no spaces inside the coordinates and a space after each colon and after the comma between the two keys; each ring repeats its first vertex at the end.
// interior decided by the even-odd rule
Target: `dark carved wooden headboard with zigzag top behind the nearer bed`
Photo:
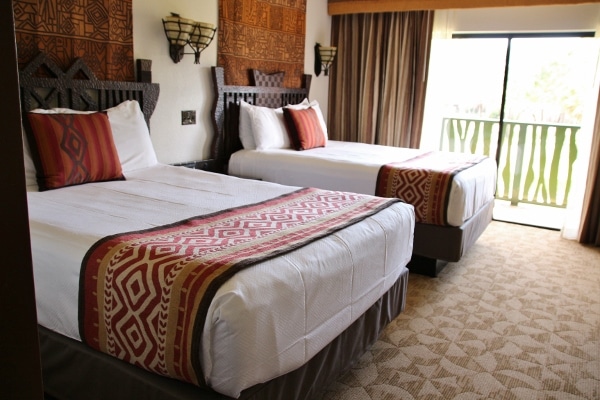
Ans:
{"type": "Polygon", "coordinates": [[[102,111],[125,100],[137,100],[148,126],[160,92],[157,83],[98,80],[82,59],[62,71],[45,53],[20,71],[19,81],[23,114],[53,107],[102,111]]]}

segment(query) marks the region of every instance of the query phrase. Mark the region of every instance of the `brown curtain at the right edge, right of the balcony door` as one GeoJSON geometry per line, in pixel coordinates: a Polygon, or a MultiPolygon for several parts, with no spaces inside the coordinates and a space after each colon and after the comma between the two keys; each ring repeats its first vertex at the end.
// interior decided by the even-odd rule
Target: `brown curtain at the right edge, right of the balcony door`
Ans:
{"type": "Polygon", "coordinates": [[[600,246],[600,96],[580,226],[579,242],[600,246]]]}

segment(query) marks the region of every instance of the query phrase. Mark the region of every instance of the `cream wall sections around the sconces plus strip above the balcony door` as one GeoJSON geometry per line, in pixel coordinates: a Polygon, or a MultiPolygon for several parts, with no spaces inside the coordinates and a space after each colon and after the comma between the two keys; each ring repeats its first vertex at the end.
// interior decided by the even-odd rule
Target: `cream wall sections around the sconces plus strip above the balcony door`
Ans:
{"type": "MultiPolygon", "coordinates": [[[[218,23],[218,0],[133,0],[134,58],[152,60],[153,81],[161,85],[151,122],[152,142],[164,163],[207,159],[213,136],[210,109],[213,94],[210,67],[217,63],[217,42],[202,52],[200,65],[186,55],[175,64],[168,54],[161,18],[177,12],[184,17],[218,23]],[[181,125],[181,111],[195,110],[196,125],[181,125]]],[[[325,0],[307,0],[305,73],[313,75],[310,98],[327,116],[329,78],[314,76],[314,44],[329,43],[331,17],[325,0]]],[[[454,31],[523,31],[600,29],[600,4],[549,7],[461,9],[436,12],[435,36],[454,31]]],[[[335,43],[333,43],[335,45],[335,43]]]]}

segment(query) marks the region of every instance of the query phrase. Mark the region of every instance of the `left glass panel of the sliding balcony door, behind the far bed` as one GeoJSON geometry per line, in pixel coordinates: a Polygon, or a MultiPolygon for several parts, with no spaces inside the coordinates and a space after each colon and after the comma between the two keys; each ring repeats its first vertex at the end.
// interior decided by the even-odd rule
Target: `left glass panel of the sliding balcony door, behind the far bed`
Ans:
{"type": "Polygon", "coordinates": [[[434,40],[421,148],[495,156],[508,40],[434,40]]]}

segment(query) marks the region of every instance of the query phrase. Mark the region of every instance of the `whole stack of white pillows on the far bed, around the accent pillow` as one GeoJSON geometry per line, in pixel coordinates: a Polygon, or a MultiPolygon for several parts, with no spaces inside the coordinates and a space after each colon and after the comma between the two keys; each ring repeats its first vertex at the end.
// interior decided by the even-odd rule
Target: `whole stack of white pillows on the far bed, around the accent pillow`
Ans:
{"type": "MultiPolygon", "coordinates": [[[[304,99],[300,104],[287,105],[294,109],[312,107],[317,112],[319,123],[327,141],[327,125],[316,100],[304,99]]],[[[283,117],[283,108],[254,106],[240,101],[239,135],[246,150],[287,149],[291,147],[283,117]]]]}

